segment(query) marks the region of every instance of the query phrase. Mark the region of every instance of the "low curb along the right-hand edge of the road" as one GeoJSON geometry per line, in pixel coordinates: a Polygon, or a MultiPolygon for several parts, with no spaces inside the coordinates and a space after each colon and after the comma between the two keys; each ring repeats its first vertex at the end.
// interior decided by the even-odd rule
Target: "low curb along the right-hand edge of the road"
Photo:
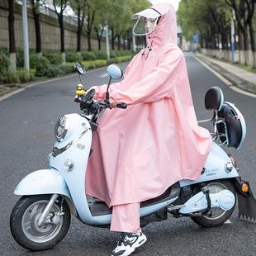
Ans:
{"type": "Polygon", "coordinates": [[[256,84],[245,81],[243,78],[236,76],[234,73],[230,73],[228,70],[221,68],[219,65],[212,63],[208,59],[205,59],[202,55],[196,55],[198,59],[214,69],[217,73],[220,73],[224,78],[228,79],[236,87],[256,94],[256,84]]]}

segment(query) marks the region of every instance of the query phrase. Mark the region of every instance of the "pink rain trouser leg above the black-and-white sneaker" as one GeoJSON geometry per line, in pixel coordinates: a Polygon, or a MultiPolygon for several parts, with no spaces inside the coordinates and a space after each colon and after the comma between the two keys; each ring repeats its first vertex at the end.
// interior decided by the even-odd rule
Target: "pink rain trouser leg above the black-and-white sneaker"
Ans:
{"type": "Polygon", "coordinates": [[[113,206],[110,230],[139,233],[141,231],[140,203],[113,206]]]}

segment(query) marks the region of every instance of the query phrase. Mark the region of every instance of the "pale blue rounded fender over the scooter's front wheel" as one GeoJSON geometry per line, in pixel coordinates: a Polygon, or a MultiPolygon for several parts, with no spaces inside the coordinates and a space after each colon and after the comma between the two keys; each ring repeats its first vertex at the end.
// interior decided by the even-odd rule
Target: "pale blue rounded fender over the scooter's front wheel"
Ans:
{"type": "Polygon", "coordinates": [[[14,194],[21,196],[60,194],[71,200],[69,188],[64,178],[54,168],[42,169],[28,174],[17,185],[14,194]]]}

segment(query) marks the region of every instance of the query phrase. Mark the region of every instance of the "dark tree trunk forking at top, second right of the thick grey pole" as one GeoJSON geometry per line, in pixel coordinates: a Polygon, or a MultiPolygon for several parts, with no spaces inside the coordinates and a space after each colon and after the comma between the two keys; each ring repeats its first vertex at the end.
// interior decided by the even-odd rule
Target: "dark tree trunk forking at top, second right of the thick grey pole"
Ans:
{"type": "Polygon", "coordinates": [[[68,0],[53,0],[55,12],[59,21],[60,29],[60,52],[65,62],[65,45],[64,45],[64,10],[67,7],[68,0]],[[59,11],[58,11],[59,10],[59,11]]]}

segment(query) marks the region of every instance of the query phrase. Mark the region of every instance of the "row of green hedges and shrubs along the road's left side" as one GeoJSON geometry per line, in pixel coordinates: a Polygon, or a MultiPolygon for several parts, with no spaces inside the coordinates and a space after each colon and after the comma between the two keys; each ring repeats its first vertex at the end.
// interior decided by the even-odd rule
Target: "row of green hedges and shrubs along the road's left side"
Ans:
{"type": "MultiPolygon", "coordinates": [[[[10,69],[9,58],[3,54],[4,52],[6,50],[0,49],[0,83],[7,84],[27,83],[35,77],[52,78],[60,74],[73,73],[73,64],[77,60],[80,60],[86,69],[96,69],[108,64],[120,63],[131,59],[130,51],[121,51],[119,54],[117,54],[117,51],[113,51],[111,56],[115,56],[115,58],[108,60],[98,59],[107,57],[105,50],[83,51],[81,55],[69,51],[67,53],[68,58],[66,59],[71,59],[72,61],[60,64],[62,60],[59,52],[47,50],[42,55],[31,52],[31,70],[17,69],[17,71],[13,71],[10,69]],[[124,53],[127,55],[124,55],[124,53]]],[[[21,56],[23,56],[21,53],[21,50],[17,51],[17,56],[19,55],[20,58],[18,61],[21,61],[21,56]]]]}

